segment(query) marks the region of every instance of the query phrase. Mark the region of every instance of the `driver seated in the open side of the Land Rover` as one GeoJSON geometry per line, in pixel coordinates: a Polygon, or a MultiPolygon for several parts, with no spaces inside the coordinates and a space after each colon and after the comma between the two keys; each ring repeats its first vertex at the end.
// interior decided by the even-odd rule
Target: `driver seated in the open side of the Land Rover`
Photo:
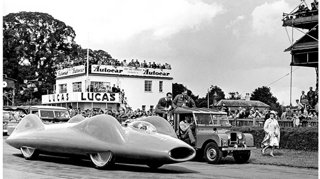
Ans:
{"type": "Polygon", "coordinates": [[[180,127],[180,133],[181,133],[181,139],[190,139],[191,145],[194,146],[195,145],[195,139],[194,139],[194,131],[192,131],[192,129],[194,129],[195,125],[194,123],[191,123],[191,119],[192,117],[190,115],[186,116],[184,121],[181,121],[179,123],[179,127],[180,127]]]}

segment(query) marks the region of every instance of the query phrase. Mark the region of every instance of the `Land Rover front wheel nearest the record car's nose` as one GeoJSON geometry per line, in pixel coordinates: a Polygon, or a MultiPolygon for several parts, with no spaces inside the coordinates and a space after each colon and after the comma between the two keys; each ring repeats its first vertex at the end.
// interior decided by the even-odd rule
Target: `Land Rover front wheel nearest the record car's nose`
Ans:
{"type": "Polygon", "coordinates": [[[213,142],[206,145],[204,155],[209,164],[218,164],[222,159],[222,151],[213,142]]]}

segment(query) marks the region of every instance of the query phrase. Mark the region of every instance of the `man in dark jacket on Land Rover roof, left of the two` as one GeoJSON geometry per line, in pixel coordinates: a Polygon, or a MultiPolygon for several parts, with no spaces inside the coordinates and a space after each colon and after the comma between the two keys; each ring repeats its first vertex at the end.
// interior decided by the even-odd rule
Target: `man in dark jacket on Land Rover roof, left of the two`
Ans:
{"type": "Polygon", "coordinates": [[[160,98],[158,104],[155,107],[155,113],[164,119],[167,119],[167,115],[170,113],[172,108],[175,108],[175,105],[172,102],[172,93],[167,93],[167,96],[160,98]]]}

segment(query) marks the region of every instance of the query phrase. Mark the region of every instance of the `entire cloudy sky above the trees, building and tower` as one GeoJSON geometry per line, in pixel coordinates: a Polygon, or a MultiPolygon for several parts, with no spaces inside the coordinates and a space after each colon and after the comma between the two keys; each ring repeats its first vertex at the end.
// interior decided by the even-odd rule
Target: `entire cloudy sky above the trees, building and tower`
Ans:
{"type": "MultiPolygon", "coordinates": [[[[290,46],[282,14],[301,2],[285,1],[14,1],[3,15],[44,12],[71,26],[76,43],[113,58],[169,63],[173,82],[204,97],[211,85],[243,95],[290,73],[290,46]]],[[[306,1],[310,7],[311,0],[306,1]]],[[[292,29],[287,28],[291,37],[292,29]]],[[[294,41],[303,34],[294,30],[294,41]]],[[[297,67],[293,67],[295,70],[297,67]]],[[[292,73],[292,103],[315,88],[314,68],[292,73]]],[[[269,85],[290,104],[290,75],[269,85]]]]}

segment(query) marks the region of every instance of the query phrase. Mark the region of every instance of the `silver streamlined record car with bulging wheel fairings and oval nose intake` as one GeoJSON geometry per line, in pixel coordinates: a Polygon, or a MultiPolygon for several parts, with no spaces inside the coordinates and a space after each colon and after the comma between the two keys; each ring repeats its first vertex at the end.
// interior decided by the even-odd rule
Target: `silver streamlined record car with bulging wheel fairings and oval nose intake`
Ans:
{"type": "Polygon", "coordinates": [[[158,168],[195,156],[195,150],[177,139],[171,125],[160,117],[122,126],[109,115],[88,119],[75,116],[66,123],[45,125],[36,115],[29,114],[5,142],[20,149],[27,160],[48,153],[88,155],[97,169],[108,169],[115,162],[158,168]],[[145,126],[144,130],[138,126],[145,126]]]}

